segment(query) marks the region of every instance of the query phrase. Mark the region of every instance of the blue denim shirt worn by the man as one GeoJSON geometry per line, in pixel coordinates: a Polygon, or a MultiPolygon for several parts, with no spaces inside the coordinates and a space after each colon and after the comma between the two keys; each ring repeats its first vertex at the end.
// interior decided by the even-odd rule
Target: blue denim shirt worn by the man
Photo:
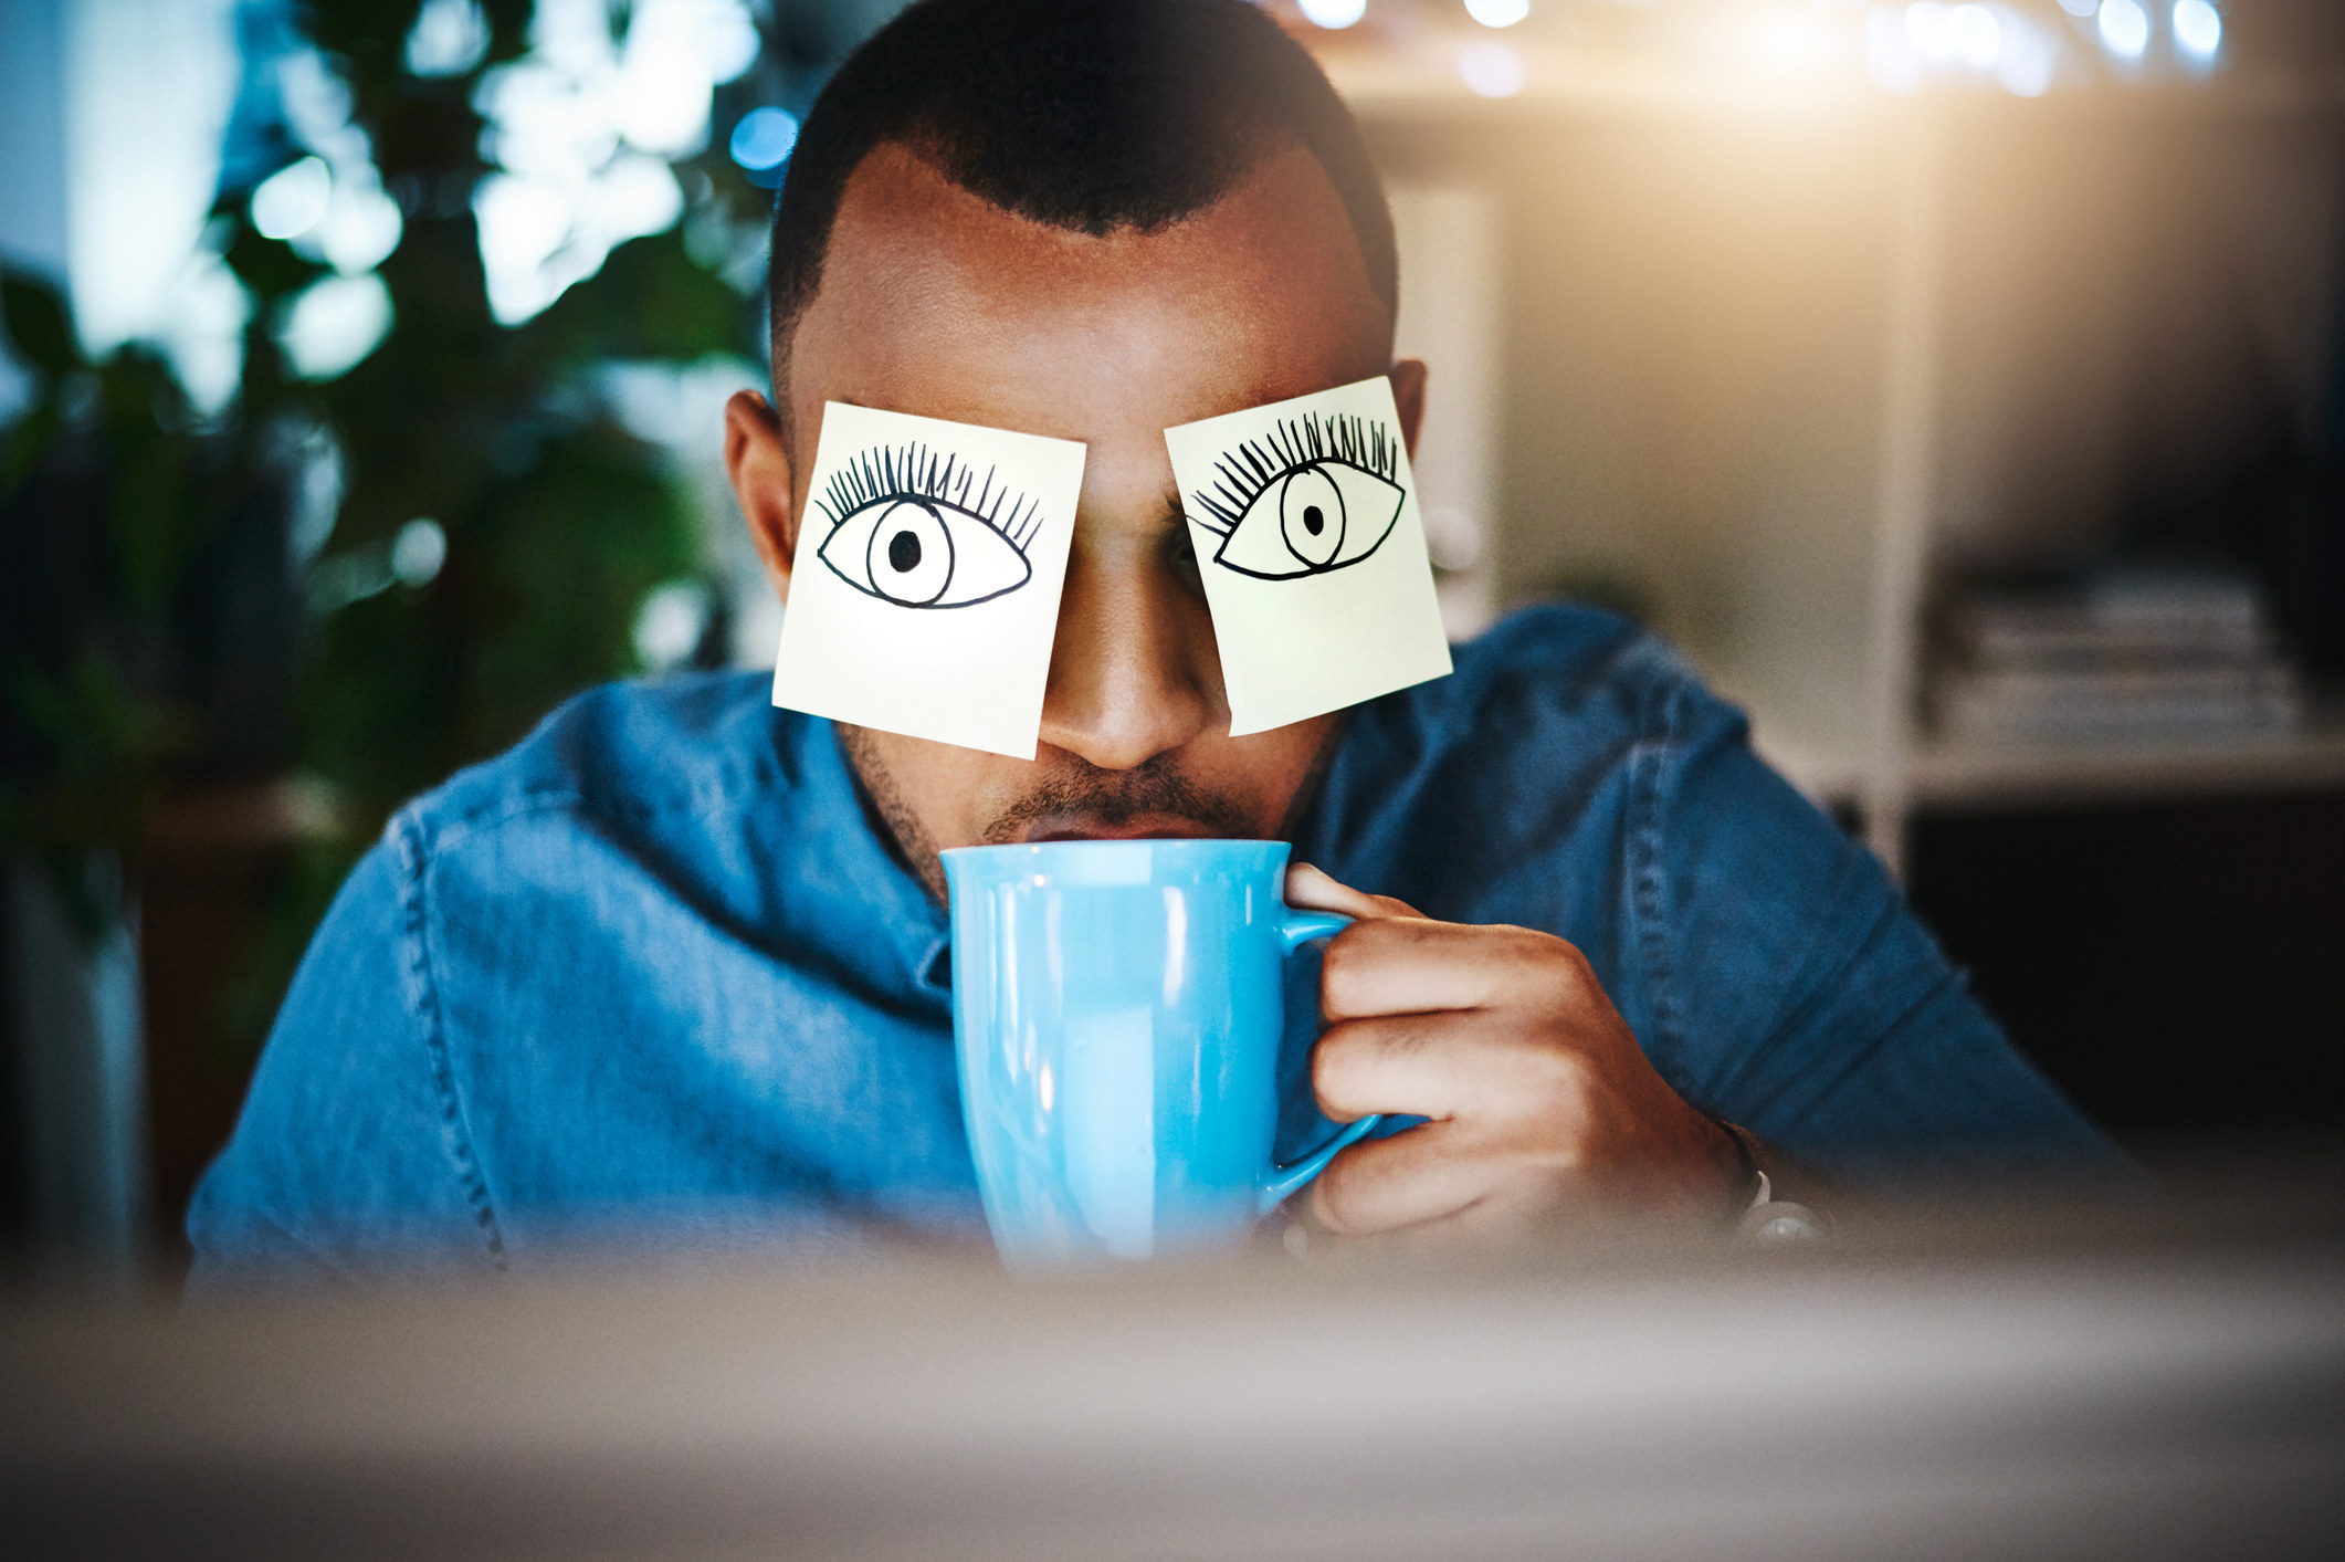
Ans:
{"type": "MultiPolygon", "coordinates": [[[[1843,1177],[2113,1156],[1616,619],[1522,612],[1353,711],[1297,858],[1569,938],[1686,1100],[1843,1177]]],[[[342,887],[197,1191],[199,1271],[978,1236],[950,980],[830,722],[753,673],[596,690],[342,887]]],[[[1290,1032],[1285,1154],[1323,1130],[1290,1032]]]]}

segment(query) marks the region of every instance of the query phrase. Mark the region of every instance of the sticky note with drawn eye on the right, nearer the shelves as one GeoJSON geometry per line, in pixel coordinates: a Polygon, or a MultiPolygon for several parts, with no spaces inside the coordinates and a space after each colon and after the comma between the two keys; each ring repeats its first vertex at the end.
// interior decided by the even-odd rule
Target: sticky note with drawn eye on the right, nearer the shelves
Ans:
{"type": "Polygon", "coordinates": [[[1384,375],[1165,429],[1222,647],[1229,732],[1449,673],[1384,375]]]}

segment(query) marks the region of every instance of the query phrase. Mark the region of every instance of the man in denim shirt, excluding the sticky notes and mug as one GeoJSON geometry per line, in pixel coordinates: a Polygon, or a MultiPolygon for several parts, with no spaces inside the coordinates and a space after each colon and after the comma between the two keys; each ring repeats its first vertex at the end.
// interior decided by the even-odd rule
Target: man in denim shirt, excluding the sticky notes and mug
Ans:
{"type": "Polygon", "coordinates": [[[1290,901],[1358,917],[1316,1105],[1428,1121],[1313,1184],[1339,1234],[1731,1224],[1759,1142],[1853,1182],[2110,1154],[1625,624],[1529,612],[1445,680],[1229,736],[1163,432],[1388,373],[1414,436],[1395,293],[1358,131],[1243,0],[905,12],[807,120],[774,399],[734,399],[725,457],[788,593],[825,401],[1081,441],[1036,758],[755,675],[572,701],[352,875],[202,1262],[978,1234],[936,854],[1100,835],[1290,837],[1290,901]]]}

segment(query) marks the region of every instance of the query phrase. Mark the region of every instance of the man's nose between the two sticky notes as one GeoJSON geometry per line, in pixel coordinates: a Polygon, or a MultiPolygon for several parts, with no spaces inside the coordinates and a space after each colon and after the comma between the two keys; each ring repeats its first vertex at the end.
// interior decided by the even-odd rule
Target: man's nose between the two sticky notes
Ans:
{"type": "Polygon", "coordinates": [[[1067,561],[1041,701],[1041,741],[1133,769],[1219,720],[1219,664],[1203,607],[1151,549],[1083,546],[1067,561]]]}

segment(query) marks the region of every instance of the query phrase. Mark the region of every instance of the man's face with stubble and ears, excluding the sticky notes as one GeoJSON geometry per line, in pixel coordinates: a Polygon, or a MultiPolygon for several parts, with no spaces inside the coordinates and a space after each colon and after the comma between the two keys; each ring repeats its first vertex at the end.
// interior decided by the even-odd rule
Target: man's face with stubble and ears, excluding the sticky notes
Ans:
{"type": "MultiPolygon", "coordinates": [[[[1163,432],[1388,361],[1391,321],[1306,150],[1273,152],[1189,220],[1107,237],[1011,216],[900,145],[865,157],[790,342],[795,441],[757,396],[727,413],[727,464],[776,589],[825,401],[1088,450],[1034,760],[842,727],[933,889],[945,847],[1283,833],[1339,718],[1229,736],[1163,432]]],[[[1395,366],[1393,385],[1414,443],[1421,366],[1395,366]]]]}

